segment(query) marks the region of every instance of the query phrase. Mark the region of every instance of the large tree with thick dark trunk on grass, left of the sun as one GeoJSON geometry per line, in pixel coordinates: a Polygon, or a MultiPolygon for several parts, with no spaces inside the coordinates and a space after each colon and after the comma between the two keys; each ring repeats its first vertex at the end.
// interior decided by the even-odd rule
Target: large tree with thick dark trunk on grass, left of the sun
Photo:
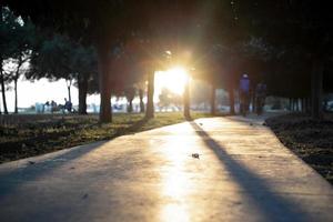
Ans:
{"type": "MultiPolygon", "coordinates": [[[[132,16],[123,1],[4,1],[23,18],[51,32],[68,33],[72,39],[94,44],[99,63],[101,93],[100,121],[111,121],[110,59],[111,46],[127,29],[122,20],[132,16]]],[[[135,17],[138,18],[138,17],[135,17]]],[[[128,20],[130,22],[130,20],[128,20]]]]}

